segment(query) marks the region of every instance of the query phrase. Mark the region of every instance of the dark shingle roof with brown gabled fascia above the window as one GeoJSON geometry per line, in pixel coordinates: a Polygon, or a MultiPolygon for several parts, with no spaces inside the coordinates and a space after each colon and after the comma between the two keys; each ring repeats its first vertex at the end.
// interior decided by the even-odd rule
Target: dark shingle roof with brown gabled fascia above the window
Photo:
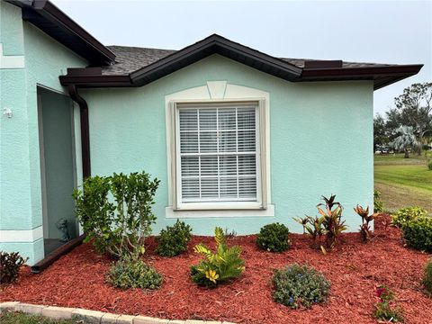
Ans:
{"type": "Polygon", "coordinates": [[[419,73],[421,64],[390,65],[275,58],[257,49],[213,34],[180,50],[112,46],[116,55],[111,66],[68,68],[59,76],[62,85],[78,87],[142,86],[218,54],[248,67],[291,82],[374,80],[374,89],[391,85],[419,73]]]}

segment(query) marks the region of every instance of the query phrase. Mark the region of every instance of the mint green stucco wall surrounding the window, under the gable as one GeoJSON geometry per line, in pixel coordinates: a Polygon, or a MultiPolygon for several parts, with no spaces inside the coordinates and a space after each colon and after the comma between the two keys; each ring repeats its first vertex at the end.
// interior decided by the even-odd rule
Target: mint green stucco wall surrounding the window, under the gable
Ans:
{"type": "Polygon", "coordinates": [[[165,96],[227,81],[270,94],[271,200],[275,217],[186,219],[196,234],[214,226],[256,233],[292,217],[313,215],[322,194],[338,194],[347,224],[356,231],[352,207],[373,202],[372,81],[290,83],[218,55],[139,88],[81,90],[90,112],[92,175],[146,170],[161,180],[154,211],[156,231],[175,220],[168,205],[165,96]]]}

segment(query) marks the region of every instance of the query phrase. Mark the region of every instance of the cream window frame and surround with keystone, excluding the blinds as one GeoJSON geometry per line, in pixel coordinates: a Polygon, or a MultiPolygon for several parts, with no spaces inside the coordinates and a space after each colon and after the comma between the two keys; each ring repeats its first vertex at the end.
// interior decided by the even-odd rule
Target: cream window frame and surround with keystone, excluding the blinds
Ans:
{"type": "Polygon", "coordinates": [[[229,85],[225,81],[166,95],[166,144],[168,166],[168,206],[166,218],[274,216],[270,202],[269,170],[269,94],[254,88],[229,85]],[[223,91],[222,91],[223,90],[223,91]],[[178,106],[235,105],[254,103],[257,106],[257,202],[182,202],[181,166],[178,136],[178,106]],[[259,183],[258,183],[259,181],[259,183]]]}

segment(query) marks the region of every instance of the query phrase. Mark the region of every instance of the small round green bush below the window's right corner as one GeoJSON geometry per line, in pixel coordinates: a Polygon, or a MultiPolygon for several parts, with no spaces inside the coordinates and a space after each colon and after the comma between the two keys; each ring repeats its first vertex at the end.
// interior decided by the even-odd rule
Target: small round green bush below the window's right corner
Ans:
{"type": "Polygon", "coordinates": [[[260,229],[257,245],[271,252],[282,252],[290,247],[290,231],[284,224],[268,224],[260,229]]]}

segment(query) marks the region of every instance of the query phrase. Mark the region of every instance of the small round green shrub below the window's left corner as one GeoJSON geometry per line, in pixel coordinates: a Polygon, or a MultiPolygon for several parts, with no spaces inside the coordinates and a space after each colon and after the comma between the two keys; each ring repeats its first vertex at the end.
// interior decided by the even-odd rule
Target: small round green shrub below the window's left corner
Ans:
{"type": "Polygon", "coordinates": [[[166,226],[157,238],[156,253],[162,257],[175,257],[187,250],[192,238],[192,228],[184,221],[177,220],[173,226],[166,226]]]}

